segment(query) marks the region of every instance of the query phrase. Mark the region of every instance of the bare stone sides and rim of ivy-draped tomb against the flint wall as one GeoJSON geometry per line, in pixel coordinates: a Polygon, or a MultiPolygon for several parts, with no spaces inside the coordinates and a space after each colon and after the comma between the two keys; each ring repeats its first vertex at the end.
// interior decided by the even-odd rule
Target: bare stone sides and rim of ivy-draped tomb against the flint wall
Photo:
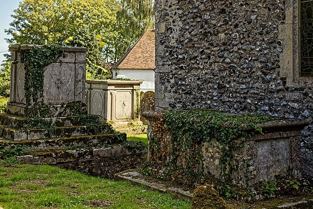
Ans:
{"type": "MultiPolygon", "coordinates": [[[[169,163],[168,154],[173,150],[169,142],[171,133],[162,119],[162,114],[161,111],[147,111],[142,116],[149,120],[149,159],[162,158],[159,159],[160,162],[166,164],[169,163]],[[158,144],[152,144],[152,138],[158,139],[155,140],[158,144]],[[161,153],[151,152],[151,150],[159,150],[161,153]]],[[[264,134],[247,139],[242,148],[232,152],[234,169],[230,173],[231,183],[252,186],[262,181],[273,180],[276,176],[283,176],[286,179],[300,178],[302,172],[300,135],[301,130],[307,125],[308,122],[296,119],[277,119],[259,124],[264,134]]],[[[233,141],[233,143],[240,142],[240,140],[233,141]]],[[[202,164],[199,165],[201,175],[221,177],[219,164],[221,151],[218,148],[219,144],[214,139],[211,143],[204,142],[195,146],[193,151],[200,153],[202,159],[202,164]]],[[[179,163],[182,165],[186,162],[178,161],[178,166],[179,163]]]]}

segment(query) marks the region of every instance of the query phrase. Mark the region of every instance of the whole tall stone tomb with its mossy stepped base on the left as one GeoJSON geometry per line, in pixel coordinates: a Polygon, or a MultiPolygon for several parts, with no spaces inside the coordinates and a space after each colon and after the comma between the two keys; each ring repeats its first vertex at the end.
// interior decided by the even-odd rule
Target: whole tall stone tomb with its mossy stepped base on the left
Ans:
{"type": "Polygon", "coordinates": [[[103,177],[113,177],[116,172],[143,163],[146,159],[143,143],[128,141],[126,134],[115,132],[99,116],[87,114],[87,48],[60,47],[58,59],[45,68],[29,63],[32,59],[40,63],[42,56],[25,61],[25,53],[31,51],[33,56],[34,51],[45,47],[48,48],[10,47],[11,92],[7,111],[0,114],[0,160],[9,157],[2,148],[19,147],[23,150],[23,154],[17,154],[21,163],[56,164],[103,177]],[[37,79],[32,72],[41,77],[37,79]]]}

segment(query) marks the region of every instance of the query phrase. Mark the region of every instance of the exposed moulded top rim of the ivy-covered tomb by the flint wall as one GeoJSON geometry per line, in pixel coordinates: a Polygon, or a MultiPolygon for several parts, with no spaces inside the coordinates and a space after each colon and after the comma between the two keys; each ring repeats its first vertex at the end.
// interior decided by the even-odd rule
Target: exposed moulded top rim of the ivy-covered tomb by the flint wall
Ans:
{"type": "MultiPolygon", "coordinates": [[[[145,111],[141,116],[148,120],[160,120],[163,111],[145,111]]],[[[225,113],[227,114],[227,113],[225,113]]],[[[238,114],[238,116],[240,116],[238,114]]],[[[302,130],[310,124],[307,120],[291,119],[291,118],[278,118],[268,122],[258,124],[264,133],[282,132],[282,131],[295,131],[302,130]]],[[[252,131],[252,129],[243,129],[245,131],[252,131]]]]}

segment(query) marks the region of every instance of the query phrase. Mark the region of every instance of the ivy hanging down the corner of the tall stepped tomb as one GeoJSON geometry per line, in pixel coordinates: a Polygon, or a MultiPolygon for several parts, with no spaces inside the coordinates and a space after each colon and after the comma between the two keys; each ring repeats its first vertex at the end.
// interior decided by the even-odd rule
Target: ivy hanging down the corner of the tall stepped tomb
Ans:
{"type": "Polygon", "coordinates": [[[20,49],[21,62],[25,70],[26,109],[31,104],[39,106],[43,102],[45,67],[56,62],[62,54],[60,46],[32,46],[20,49]]]}

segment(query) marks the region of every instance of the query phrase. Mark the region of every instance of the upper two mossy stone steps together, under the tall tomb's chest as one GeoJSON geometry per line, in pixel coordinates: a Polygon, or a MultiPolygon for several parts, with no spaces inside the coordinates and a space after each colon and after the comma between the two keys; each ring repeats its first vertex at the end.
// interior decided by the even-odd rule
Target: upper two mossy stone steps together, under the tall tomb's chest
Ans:
{"type": "Polygon", "coordinates": [[[84,135],[112,134],[107,123],[94,124],[98,116],[30,118],[0,114],[0,137],[11,140],[48,139],[84,135]]]}

